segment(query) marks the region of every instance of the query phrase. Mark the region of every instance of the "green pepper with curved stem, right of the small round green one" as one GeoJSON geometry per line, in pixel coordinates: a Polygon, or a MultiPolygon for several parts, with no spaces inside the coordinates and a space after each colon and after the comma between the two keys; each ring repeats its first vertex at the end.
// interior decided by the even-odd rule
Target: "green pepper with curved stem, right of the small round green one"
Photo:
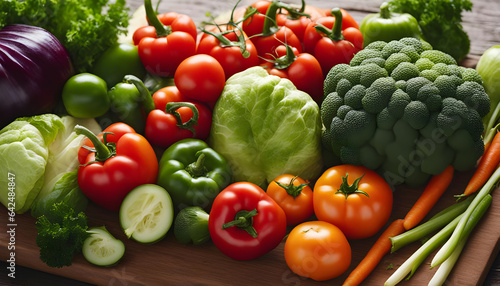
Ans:
{"type": "Polygon", "coordinates": [[[144,83],[134,75],[126,75],[123,82],[108,91],[111,100],[109,111],[99,118],[104,129],[114,122],[123,122],[144,134],[149,112],[155,109],[153,98],[144,83]]]}

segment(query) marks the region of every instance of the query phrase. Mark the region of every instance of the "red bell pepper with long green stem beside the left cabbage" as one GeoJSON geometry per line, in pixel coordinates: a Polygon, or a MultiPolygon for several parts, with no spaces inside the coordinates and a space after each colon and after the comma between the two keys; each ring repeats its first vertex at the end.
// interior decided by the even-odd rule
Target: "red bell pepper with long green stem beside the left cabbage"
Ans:
{"type": "Polygon", "coordinates": [[[158,159],[142,135],[125,123],[114,123],[98,136],[85,127],[75,132],[87,136],[78,153],[78,185],[96,204],[118,211],[135,187],[156,183],[158,159]]]}

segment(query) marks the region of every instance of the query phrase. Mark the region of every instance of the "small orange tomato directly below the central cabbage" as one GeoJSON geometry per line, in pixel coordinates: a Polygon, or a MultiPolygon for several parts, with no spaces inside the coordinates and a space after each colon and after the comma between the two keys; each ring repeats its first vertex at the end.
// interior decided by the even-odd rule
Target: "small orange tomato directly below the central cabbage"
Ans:
{"type": "Polygon", "coordinates": [[[266,192],[285,211],[287,225],[301,223],[314,212],[312,189],[300,177],[278,176],[268,185],[266,192]]]}

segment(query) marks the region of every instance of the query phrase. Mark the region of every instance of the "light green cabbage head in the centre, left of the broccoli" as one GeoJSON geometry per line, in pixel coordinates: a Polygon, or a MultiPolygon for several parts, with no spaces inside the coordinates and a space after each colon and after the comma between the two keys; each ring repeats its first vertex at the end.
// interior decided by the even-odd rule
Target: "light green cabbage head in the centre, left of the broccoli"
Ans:
{"type": "Polygon", "coordinates": [[[209,144],[236,181],[266,188],[277,176],[320,175],[319,107],[291,81],[252,67],[230,77],[213,111],[209,144]]]}

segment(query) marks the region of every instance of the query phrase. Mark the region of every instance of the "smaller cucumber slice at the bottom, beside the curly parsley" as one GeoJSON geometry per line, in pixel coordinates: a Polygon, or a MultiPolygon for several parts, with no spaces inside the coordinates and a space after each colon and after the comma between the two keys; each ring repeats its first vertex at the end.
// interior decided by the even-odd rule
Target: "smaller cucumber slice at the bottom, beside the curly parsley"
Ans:
{"type": "Polygon", "coordinates": [[[90,236],[83,242],[82,253],[88,262],[98,266],[112,266],[125,254],[125,245],[109,233],[106,227],[87,230],[90,236]]]}

